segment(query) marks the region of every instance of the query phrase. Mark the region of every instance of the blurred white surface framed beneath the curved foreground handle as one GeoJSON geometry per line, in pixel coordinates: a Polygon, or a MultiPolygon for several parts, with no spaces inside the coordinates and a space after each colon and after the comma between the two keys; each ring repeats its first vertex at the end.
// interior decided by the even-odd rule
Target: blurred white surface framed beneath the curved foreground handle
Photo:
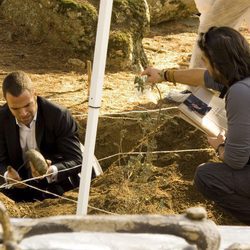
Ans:
{"type": "Polygon", "coordinates": [[[168,234],[74,232],[34,235],[19,244],[22,250],[195,250],[184,239],[168,234]]]}

